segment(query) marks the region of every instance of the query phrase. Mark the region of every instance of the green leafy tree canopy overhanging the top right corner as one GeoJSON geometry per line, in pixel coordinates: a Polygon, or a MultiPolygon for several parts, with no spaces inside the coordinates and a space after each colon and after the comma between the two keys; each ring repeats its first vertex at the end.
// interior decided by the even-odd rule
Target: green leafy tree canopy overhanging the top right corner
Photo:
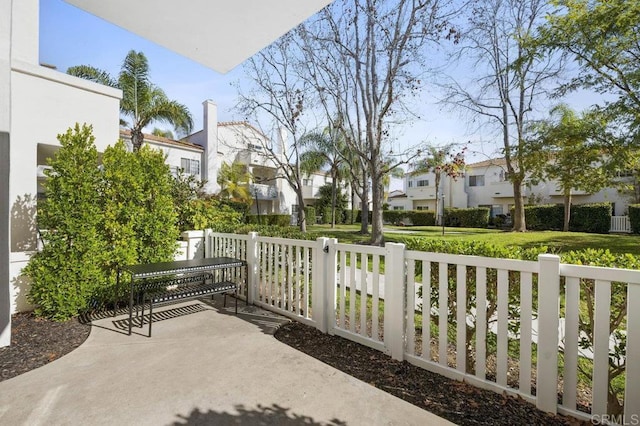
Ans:
{"type": "Polygon", "coordinates": [[[579,88],[613,95],[604,108],[636,134],[640,127],[640,3],[628,0],[553,0],[540,42],[569,53],[578,74],[560,94],[579,88]]]}

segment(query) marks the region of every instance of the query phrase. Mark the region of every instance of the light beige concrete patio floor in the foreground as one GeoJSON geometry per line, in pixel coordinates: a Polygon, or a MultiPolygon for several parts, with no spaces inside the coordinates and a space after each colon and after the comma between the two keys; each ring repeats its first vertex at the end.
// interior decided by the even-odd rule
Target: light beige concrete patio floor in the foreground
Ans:
{"type": "Polygon", "coordinates": [[[78,349],[0,383],[0,424],[451,424],[280,343],[286,319],[191,301],[93,321],[78,349]]]}

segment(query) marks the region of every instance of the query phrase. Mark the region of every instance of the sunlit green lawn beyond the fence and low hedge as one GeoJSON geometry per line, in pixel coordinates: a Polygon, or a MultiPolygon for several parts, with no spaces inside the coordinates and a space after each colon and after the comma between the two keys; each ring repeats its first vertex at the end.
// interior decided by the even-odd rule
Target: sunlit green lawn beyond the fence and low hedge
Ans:
{"type": "MultiPolygon", "coordinates": [[[[554,252],[582,250],[586,248],[609,249],[613,253],[631,253],[640,256],[640,236],[586,234],[582,232],[529,231],[505,232],[494,229],[442,228],[436,226],[385,226],[385,241],[394,242],[406,238],[434,238],[445,240],[485,241],[504,246],[524,248],[547,246],[554,252]]],[[[329,225],[309,226],[309,231],[337,238],[343,243],[360,243],[367,240],[359,233],[359,225],[338,225],[331,229],[329,225]]]]}

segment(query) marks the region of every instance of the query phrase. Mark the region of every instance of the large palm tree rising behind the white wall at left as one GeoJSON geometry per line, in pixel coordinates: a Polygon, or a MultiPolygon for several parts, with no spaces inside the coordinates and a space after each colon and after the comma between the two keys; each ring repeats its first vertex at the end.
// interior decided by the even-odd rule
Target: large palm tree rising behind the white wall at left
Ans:
{"type": "Polygon", "coordinates": [[[67,74],[122,90],[120,113],[131,120],[127,127],[131,129],[134,151],[142,146],[142,129],[151,122],[165,122],[186,133],[193,127],[187,107],[170,100],[161,88],[151,83],[149,64],[142,52],[131,50],[127,53],[117,80],[106,71],[89,65],[70,67],[67,74]]]}

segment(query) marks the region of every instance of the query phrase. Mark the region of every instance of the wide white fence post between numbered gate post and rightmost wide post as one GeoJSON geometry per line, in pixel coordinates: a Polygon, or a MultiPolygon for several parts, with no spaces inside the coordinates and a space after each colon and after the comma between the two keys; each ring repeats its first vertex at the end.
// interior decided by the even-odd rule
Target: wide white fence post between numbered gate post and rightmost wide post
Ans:
{"type": "MultiPolygon", "coordinates": [[[[405,259],[404,244],[385,244],[384,344],[393,359],[404,359],[405,259]]],[[[353,267],[353,266],[352,266],[353,267]]]]}

